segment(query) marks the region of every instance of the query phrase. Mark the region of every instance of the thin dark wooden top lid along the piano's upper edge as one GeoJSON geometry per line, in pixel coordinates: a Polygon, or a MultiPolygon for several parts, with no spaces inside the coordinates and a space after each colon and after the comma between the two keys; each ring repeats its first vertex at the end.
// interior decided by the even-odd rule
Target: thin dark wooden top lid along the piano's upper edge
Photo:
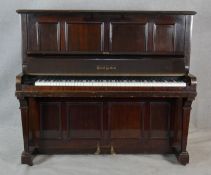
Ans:
{"type": "Polygon", "coordinates": [[[128,11],[128,10],[43,10],[43,9],[18,9],[17,13],[42,13],[42,14],[55,14],[55,13],[133,13],[133,14],[147,14],[147,15],[195,15],[195,11],[128,11]]]}

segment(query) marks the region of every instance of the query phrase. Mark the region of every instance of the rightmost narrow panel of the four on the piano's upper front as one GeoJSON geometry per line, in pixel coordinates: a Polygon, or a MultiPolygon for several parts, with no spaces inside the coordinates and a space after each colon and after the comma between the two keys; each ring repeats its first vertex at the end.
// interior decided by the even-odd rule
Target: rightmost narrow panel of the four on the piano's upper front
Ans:
{"type": "Polygon", "coordinates": [[[153,52],[184,52],[184,16],[157,16],[152,24],[153,52]]]}

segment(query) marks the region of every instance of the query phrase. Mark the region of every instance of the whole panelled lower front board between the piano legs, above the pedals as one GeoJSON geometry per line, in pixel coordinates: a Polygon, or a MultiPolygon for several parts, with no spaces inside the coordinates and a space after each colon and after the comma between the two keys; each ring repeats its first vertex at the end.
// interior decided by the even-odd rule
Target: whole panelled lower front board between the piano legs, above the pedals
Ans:
{"type": "Polygon", "coordinates": [[[167,153],[177,99],[30,98],[30,147],[42,153],[167,153]]]}

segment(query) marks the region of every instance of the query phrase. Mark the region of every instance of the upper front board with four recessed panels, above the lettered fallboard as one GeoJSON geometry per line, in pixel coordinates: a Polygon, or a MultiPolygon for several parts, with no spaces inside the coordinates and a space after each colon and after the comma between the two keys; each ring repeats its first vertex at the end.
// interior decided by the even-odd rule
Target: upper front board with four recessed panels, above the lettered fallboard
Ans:
{"type": "Polygon", "coordinates": [[[28,54],[184,54],[185,16],[27,15],[28,54]]]}

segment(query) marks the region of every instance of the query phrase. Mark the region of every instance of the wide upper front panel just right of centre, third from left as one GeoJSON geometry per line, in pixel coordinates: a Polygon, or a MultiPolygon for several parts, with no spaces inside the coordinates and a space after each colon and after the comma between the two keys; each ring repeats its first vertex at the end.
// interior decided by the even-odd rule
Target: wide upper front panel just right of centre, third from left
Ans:
{"type": "Polygon", "coordinates": [[[148,25],[138,22],[110,23],[111,52],[147,51],[148,25]]]}

